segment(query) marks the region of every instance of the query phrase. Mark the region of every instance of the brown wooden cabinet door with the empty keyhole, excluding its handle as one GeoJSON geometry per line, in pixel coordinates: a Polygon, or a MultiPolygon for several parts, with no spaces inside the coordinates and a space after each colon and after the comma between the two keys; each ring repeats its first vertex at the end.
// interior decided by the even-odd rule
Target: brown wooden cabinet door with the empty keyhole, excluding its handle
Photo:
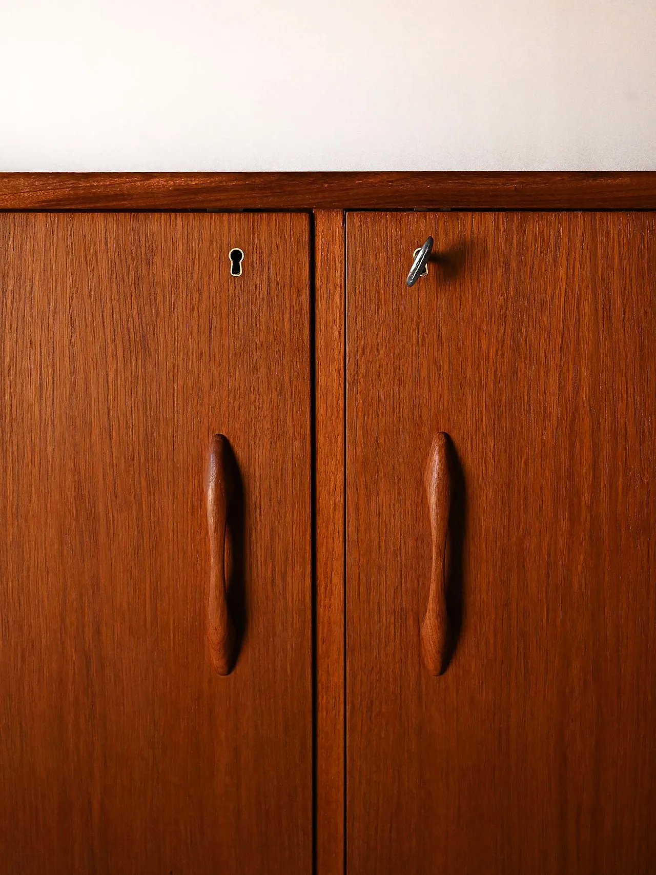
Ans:
{"type": "Polygon", "coordinates": [[[310,872],[309,301],[303,214],[0,216],[4,871],[310,872]]]}

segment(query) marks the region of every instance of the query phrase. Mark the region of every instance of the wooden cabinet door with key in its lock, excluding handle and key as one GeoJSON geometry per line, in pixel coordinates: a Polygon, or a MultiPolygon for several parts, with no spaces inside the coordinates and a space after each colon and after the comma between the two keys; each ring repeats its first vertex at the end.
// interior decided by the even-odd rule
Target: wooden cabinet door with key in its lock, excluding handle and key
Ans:
{"type": "Polygon", "coordinates": [[[653,871],[654,214],[350,214],[347,265],[348,871],[653,871]]]}

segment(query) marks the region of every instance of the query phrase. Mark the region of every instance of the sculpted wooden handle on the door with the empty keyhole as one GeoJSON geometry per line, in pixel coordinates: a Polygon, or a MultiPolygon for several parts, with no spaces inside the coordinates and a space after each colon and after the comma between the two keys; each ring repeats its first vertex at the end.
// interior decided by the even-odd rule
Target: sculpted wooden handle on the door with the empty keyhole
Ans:
{"type": "Polygon", "coordinates": [[[207,465],[207,525],[210,531],[210,593],[207,641],[214,669],[229,675],[233,668],[234,624],[227,606],[231,538],[227,513],[234,494],[233,459],[227,437],[214,435],[207,465]]]}

